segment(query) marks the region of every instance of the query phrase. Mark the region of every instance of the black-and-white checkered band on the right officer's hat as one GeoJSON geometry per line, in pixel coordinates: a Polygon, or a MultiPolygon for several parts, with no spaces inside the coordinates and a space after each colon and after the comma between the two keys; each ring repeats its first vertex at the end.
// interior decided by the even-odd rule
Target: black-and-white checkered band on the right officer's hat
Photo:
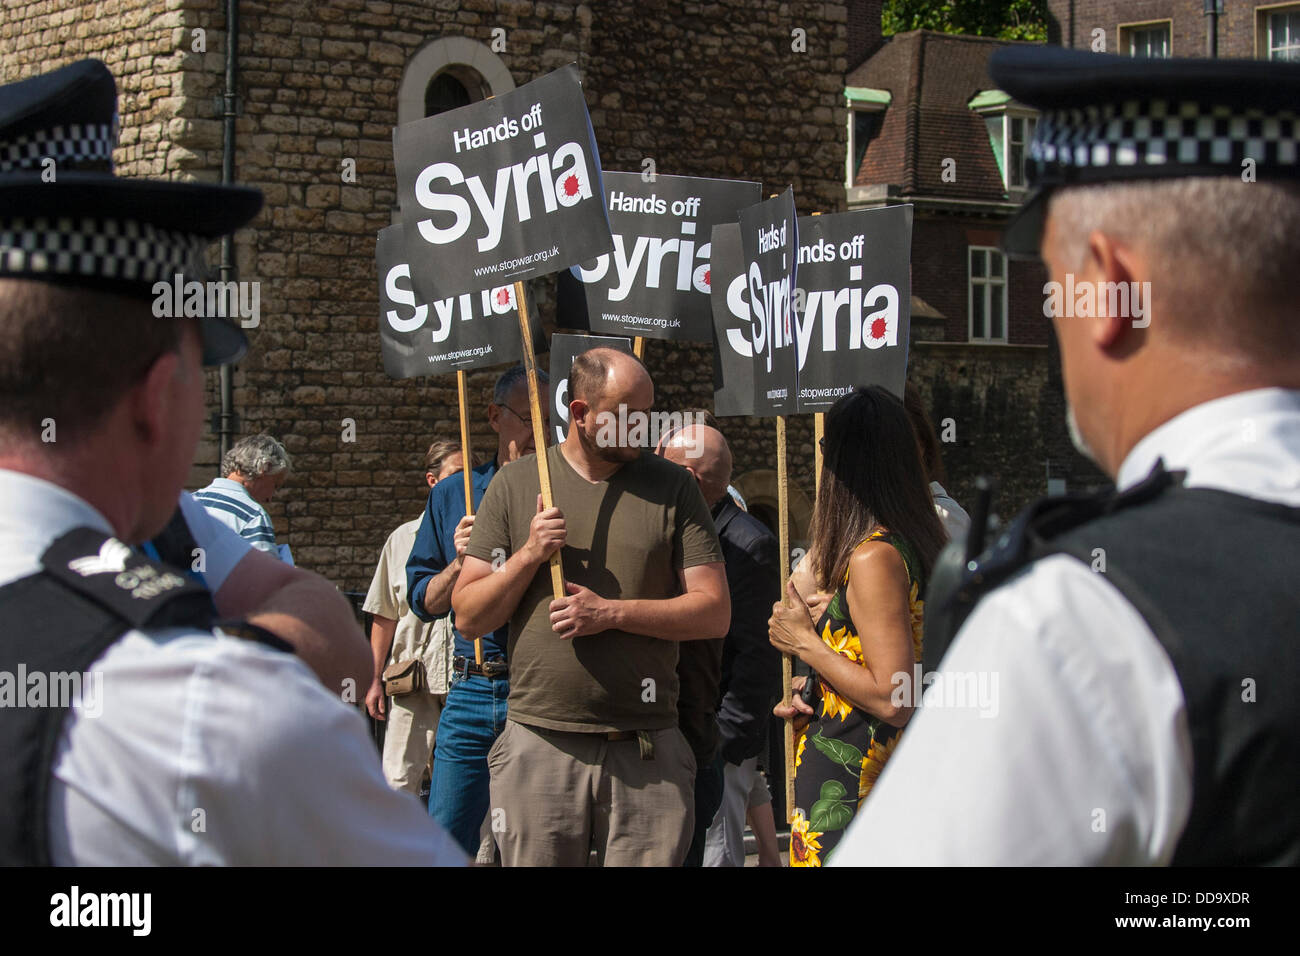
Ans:
{"type": "Polygon", "coordinates": [[[1261,174],[1300,176],[1300,117],[1196,101],[1134,100],[1046,111],[1030,143],[1034,183],[1105,178],[1104,169],[1175,165],[1225,173],[1254,160],[1261,174]]]}

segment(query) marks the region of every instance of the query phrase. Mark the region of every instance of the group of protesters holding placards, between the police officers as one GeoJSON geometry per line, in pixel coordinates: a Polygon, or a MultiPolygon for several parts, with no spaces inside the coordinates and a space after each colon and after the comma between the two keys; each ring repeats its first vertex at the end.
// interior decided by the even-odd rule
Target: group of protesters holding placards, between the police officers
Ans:
{"type": "MultiPolygon", "coordinates": [[[[425,455],[425,512],[390,536],[365,602],[385,774],[410,792],[428,779],[429,814],[480,862],[742,866],[749,826],[759,865],[780,865],[767,782],[779,767],[759,766],[774,711],[794,715],[779,706],[780,652],[812,669],[797,688],[818,688],[812,705],[797,698],[801,806],[828,777],[805,750],[806,715],[870,754],[854,808],[906,722],[888,708],[889,675],[919,659],[941,516],[963,514],[932,492],[933,429],[920,410],[914,431],[880,388],[832,410],[826,493],[785,609],[776,536],[733,496],[712,415],[654,454],[611,442],[603,416],[650,412],[654,384],[608,349],[575,360],[569,399],[567,437],[545,449],[550,509],[521,367],[488,407],[498,442],[473,468],[473,514],[458,446],[425,455]],[[866,653],[855,619],[876,635],[866,653]],[[426,678],[387,698],[384,674],[415,661],[426,678]]],[[[797,818],[793,862],[816,865],[829,845],[815,844],[797,818]]]]}

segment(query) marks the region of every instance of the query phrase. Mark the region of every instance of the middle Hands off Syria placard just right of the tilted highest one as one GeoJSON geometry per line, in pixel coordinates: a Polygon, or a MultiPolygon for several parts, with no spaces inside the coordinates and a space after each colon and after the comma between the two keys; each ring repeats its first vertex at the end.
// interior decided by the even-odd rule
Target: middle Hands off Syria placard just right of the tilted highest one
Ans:
{"type": "Polygon", "coordinates": [[[614,251],[559,274],[559,324],[707,342],[710,234],[762,195],[757,182],[606,170],[614,251]]]}

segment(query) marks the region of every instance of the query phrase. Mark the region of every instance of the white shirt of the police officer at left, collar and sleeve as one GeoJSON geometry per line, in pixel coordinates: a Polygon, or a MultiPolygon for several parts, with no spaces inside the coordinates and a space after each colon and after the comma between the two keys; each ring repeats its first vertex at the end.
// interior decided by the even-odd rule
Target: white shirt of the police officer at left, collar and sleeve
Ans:
{"type": "MultiPolygon", "coordinates": [[[[0,470],[0,585],[81,525],[112,533],[83,499],[0,470]]],[[[127,632],[92,671],[101,713],[70,710],[55,757],[56,865],[465,862],[296,657],[160,628],[127,632]]]]}

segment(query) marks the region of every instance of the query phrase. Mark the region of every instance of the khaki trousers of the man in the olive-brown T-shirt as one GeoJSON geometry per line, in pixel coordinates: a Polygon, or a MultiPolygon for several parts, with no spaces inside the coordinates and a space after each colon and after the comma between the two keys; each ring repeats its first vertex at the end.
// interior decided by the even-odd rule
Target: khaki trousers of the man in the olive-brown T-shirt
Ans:
{"type": "Polygon", "coordinates": [[[636,739],[506,721],[488,753],[503,866],[681,866],[694,826],[696,758],[676,727],[636,739]]]}

